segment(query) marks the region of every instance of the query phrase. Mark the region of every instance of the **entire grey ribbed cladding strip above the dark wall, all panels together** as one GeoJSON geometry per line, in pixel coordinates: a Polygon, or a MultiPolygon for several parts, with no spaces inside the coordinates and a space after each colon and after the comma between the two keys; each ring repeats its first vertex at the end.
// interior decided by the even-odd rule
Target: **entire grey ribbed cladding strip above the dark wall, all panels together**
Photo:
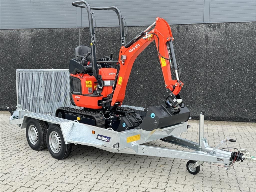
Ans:
{"type": "MultiPolygon", "coordinates": [[[[88,27],[86,9],[75,0],[0,0],[0,28],[88,27]]],[[[163,17],[169,24],[256,21],[255,0],[88,0],[91,6],[116,6],[128,26],[144,26],[163,17]]],[[[93,10],[98,27],[118,26],[114,12],[93,10]]]]}

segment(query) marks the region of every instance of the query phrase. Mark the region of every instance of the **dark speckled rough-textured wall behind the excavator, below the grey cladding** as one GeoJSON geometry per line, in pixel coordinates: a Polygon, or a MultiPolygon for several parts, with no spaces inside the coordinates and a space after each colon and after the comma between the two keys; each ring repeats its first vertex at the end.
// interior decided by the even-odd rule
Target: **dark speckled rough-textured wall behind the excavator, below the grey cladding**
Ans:
{"type": "MultiPolygon", "coordinates": [[[[129,27],[127,42],[145,27],[129,27]]],[[[182,67],[181,95],[197,118],[256,121],[256,23],[172,25],[176,60],[182,67]]],[[[1,30],[0,108],[16,105],[16,69],[68,68],[74,48],[89,45],[88,28],[1,30]],[[80,35],[80,38],[79,38],[80,35]]],[[[99,28],[97,56],[120,48],[119,28],[99,28]]],[[[159,105],[164,81],[155,43],[135,60],[124,104],[159,105]]]]}

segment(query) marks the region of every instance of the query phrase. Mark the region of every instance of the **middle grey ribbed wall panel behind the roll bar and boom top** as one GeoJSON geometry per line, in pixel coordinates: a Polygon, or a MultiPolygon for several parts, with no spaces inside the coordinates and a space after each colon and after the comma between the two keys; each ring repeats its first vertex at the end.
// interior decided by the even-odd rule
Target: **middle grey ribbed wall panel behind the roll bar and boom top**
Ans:
{"type": "MultiPolygon", "coordinates": [[[[163,17],[169,24],[202,23],[204,14],[204,0],[88,0],[93,7],[116,6],[121,10],[128,26],[151,25],[156,17],[163,17]]],[[[118,19],[114,12],[93,10],[97,25],[101,27],[118,26],[118,19]]],[[[82,10],[82,23],[88,26],[88,15],[82,10]]]]}

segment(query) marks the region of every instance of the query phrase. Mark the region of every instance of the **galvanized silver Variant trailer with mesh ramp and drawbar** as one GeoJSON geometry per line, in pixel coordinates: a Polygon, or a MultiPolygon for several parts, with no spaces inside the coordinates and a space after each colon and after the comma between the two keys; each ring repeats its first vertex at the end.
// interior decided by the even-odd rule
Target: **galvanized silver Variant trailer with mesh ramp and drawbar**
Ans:
{"type": "MultiPolygon", "coordinates": [[[[132,129],[117,132],[111,128],[105,129],[79,123],[77,120],[58,118],[55,116],[55,110],[58,107],[72,106],[68,98],[68,69],[17,70],[16,88],[17,109],[10,111],[12,115],[9,121],[10,124],[17,124],[26,129],[30,147],[31,144],[40,144],[36,150],[45,148],[45,142],[48,142],[48,148],[50,147],[56,154],[61,147],[66,147],[64,158],[69,155],[72,144],[81,144],[113,153],[187,159],[189,160],[187,170],[191,174],[197,174],[200,171],[200,165],[204,162],[224,164],[226,169],[229,169],[235,161],[256,162],[255,157],[251,156],[246,149],[238,149],[238,152],[218,149],[228,141],[236,142],[231,138],[225,138],[218,146],[210,147],[207,139],[204,138],[204,111],[200,114],[199,143],[175,136],[189,128],[187,122],[153,131],[132,129]],[[51,128],[48,129],[49,127],[51,128]],[[61,131],[55,131],[54,127],[59,127],[61,131]],[[144,145],[157,139],[189,148],[194,152],[144,145]]],[[[144,108],[129,107],[144,115],[144,108]]],[[[54,153],[51,153],[53,157],[56,155],[54,153]]]]}

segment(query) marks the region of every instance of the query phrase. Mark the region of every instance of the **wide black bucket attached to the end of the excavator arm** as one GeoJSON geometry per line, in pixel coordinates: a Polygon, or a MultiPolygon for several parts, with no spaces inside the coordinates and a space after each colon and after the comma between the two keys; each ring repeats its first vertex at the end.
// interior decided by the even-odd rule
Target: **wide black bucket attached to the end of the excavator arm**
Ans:
{"type": "Polygon", "coordinates": [[[189,117],[190,111],[186,106],[184,106],[184,108],[180,108],[178,114],[173,115],[171,115],[163,105],[153,106],[148,108],[147,114],[138,128],[146,131],[152,131],[154,129],[186,122],[189,117]]]}

